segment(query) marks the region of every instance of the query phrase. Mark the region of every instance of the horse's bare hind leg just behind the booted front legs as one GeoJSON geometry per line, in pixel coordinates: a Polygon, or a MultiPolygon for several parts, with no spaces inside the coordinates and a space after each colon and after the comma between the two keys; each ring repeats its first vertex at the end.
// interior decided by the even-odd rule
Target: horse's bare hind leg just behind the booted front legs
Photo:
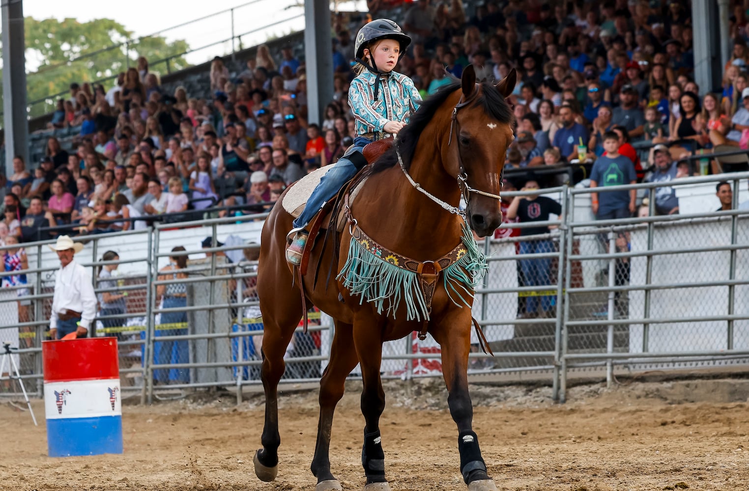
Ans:
{"type": "Polygon", "coordinates": [[[315,491],[340,490],[341,484],[330,473],[330,433],[333,427],[333,412],[343,397],[346,377],[357,366],[357,352],[351,324],[336,321],[336,333],[330,347],[330,361],[320,380],[320,422],[315,457],[312,459],[312,474],[318,478],[315,491]]]}

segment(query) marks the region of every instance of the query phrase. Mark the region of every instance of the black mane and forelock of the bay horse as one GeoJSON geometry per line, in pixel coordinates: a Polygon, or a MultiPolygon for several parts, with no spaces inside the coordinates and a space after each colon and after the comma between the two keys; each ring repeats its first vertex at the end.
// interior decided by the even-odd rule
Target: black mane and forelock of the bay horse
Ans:
{"type": "MultiPolygon", "coordinates": [[[[368,166],[369,171],[366,175],[377,174],[386,168],[396,165],[398,163],[398,156],[395,154],[395,147],[401,153],[405,168],[410,168],[413,153],[416,151],[416,144],[419,142],[419,135],[422,134],[427,124],[431,121],[434,113],[437,112],[437,108],[443,105],[450,94],[461,87],[460,80],[455,79],[455,77],[451,77],[451,79],[452,82],[449,85],[444,85],[439,91],[424,100],[419,110],[416,111],[416,114],[411,116],[410,122],[398,132],[398,139],[395,140],[393,147],[383,153],[372,165],[368,166]]],[[[491,118],[496,119],[500,123],[511,123],[512,108],[502,94],[500,94],[500,91],[497,90],[497,87],[490,82],[482,82],[481,85],[483,88],[482,95],[476,98],[471,107],[481,104],[484,107],[484,111],[491,118]]]]}

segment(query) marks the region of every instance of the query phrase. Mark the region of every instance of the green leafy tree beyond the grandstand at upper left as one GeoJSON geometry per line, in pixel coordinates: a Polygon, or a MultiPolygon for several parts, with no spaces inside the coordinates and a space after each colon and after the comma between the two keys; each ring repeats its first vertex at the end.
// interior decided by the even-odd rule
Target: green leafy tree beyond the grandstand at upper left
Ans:
{"type": "MultiPolygon", "coordinates": [[[[119,72],[128,65],[136,66],[139,56],[145,56],[151,71],[167,73],[166,64],[154,62],[189,49],[184,40],[168,43],[161,36],[134,38],[133,31],[112,19],[78,22],[26,17],[24,29],[26,66],[36,68],[26,75],[26,98],[29,103],[46,99],[30,105],[32,118],[53,111],[55,98],[50,96],[67,91],[72,82],[108,79],[103,83],[109,88],[119,72]]],[[[188,66],[182,56],[169,61],[169,71],[188,66]]]]}

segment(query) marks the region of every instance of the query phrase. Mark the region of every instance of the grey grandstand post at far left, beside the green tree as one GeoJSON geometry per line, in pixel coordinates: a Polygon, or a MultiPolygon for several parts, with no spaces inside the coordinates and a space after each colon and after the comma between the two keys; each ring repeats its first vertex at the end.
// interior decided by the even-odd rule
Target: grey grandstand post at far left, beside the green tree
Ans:
{"type": "Polygon", "coordinates": [[[2,0],[2,90],[5,132],[5,175],[13,175],[13,156],[28,162],[26,61],[23,1],[2,0]]]}

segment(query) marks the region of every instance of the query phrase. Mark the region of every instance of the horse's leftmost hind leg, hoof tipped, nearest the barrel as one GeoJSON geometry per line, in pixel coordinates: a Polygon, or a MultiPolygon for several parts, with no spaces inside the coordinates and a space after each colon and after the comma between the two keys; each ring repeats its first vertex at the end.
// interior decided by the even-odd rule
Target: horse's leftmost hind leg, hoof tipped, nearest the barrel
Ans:
{"type": "MultiPolygon", "coordinates": [[[[260,281],[258,280],[258,287],[260,281]]],[[[268,292],[271,295],[273,292],[268,292]]],[[[262,302],[263,313],[263,366],[261,379],[265,389],[265,424],[261,442],[253,462],[255,475],[265,482],[273,481],[278,473],[278,448],[281,445],[278,420],[278,385],[286,368],[283,356],[291,342],[294,330],[302,317],[301,297],[298,295],[268,296],[273,303],[262,302]]]]}

